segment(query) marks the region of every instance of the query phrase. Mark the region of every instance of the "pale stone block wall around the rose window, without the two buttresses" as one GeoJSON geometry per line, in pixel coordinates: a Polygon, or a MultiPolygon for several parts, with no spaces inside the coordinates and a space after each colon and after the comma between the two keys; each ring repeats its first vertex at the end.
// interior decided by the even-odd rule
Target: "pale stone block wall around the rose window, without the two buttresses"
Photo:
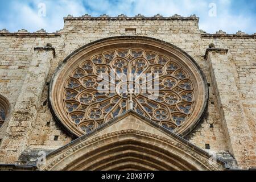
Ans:
{"type": "MultiPolygon", "coordinates": [[[[213,86],[214,79],[210,74],[209,64],[205,60],[205,51],[210,43],[214,43],[217,48],[229,49],[229,53],[233,57],[230,64],[233,64],[235,68],[232,69],[232,75],[238,88],[242,107],[240,112],[245,115],[244,121],[249,126],[251,138],[256,144],[256,35],[243,35],[241,32],[238,32],[237,35],[226,35],[222,31],[214,35],[205,34],[199,30],[199,18],[195,16],[183,18],[175,15],[163,18],[156,15],[152,18],[145,18],[138,15],[135,18],[127,18],[121,15],[118,18],[109,18],[104,15],[100,18],[92,18],[85,15],[80,18],[68,16],[68,18],[64,18],[64,21],[63,30],[56,34],[46,34],[42,31],[28,33],[24,30],[16,33],[0,32],[0,93],[9,99],[13,108],[19,102],[20,96],[24,94],[22,88],[27,83],[26,75],[33,61],[31,57],[35,53],[34,48],[51,43],[56,53],[49,68],[49,75],[43,83],[42,97],[37,98],[40,100],[40,104],[36,107],[35,121],[29,123],[31,126],[24,153],[38,149],[55,150],[72,141],[72,138],[55,122],[48,107],[48,84],[51,76],[61,61],[77,48],[95,40],[120,35],[148,36],[164,40],[183,49],[197,61],[207,77],[210,100],[204,121],[199,123],[186,139],[200,148],[225,154],[229,152],[232,154],[232,151],[229,150],[229,135],[225,130],[225,122],[220,111],[222,106],[218,102],[216,88],[213,86]]],[[[225,81],[229,81],[228,77],[225,79],[225,81]]],[[[232,110],[232,108],[230,109],[232,110]]],[[[239,123],[233,122],[237,125],[239,123]]],[[[16,150],[19,150],[15,147],[10,149],[7,144],[9,137],[15,136],[18,131],[10,130],[11,126],[8,125],[9,123],[6,122],[0,130],[0,139],[2,139],[0,163],[19,162],[5,158],[5,155],[9,154],[8,152],[12,151],[15,155],[16,150]]],[[[27,130],[26,126],[20,126],[20,130],[27,130]]],[[[17,154],[20,155],[20,152],[23,151],[19,151],[17,154]]],[[[248,154],[245,151],[244,155],[249,156],[248,161],[255,160],[255,154],[248,154]]],[[[240,163],[239,167],[255,166],[253,163],[245,162],[240,163]]]]}

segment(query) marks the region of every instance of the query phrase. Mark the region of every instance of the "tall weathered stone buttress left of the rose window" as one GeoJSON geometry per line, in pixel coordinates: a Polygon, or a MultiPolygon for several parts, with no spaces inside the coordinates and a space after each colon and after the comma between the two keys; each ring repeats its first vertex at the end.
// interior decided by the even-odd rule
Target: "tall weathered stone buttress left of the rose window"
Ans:
{"type": "Polygon", "coordinates": [[[20,154],[26,149],[53,57],[55,57],[54,48],[35,48],[30,68],[27,70],[22,90],[13,108],[13,115],[11,115],[5,138],[2,141],[0,163],[18,163],[20,154]]]}

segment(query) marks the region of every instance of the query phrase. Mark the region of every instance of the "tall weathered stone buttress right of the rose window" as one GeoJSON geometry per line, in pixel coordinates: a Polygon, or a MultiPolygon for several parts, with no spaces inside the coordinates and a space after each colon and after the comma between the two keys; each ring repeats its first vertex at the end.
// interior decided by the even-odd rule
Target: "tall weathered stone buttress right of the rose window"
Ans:
{"type": "Polygon", "coordinates": [[[241,93],[237,88],[237,70],[228,49],[208,48],[205,54],[217,107],[220,113],[229,152],[241,168],[254,167],[255,144],[241,104],[241,93]]]}

